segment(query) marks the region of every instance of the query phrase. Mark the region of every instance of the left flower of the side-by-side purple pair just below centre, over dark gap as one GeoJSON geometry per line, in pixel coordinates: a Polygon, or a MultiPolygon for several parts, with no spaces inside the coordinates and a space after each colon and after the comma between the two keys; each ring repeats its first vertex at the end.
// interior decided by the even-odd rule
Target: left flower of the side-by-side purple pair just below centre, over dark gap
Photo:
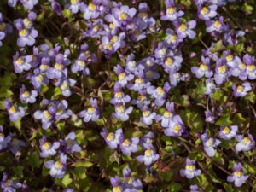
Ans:
{"type": "Polygon", "coordinates": [[[106,128],[103,128],[101,136],[104,138],[105,142],[108,144],[108,147],[111,149],[117,148],[121,142],[121,138],[124,137],[122,129],[118,129],[114,133],[108,133],[106,128]]]}

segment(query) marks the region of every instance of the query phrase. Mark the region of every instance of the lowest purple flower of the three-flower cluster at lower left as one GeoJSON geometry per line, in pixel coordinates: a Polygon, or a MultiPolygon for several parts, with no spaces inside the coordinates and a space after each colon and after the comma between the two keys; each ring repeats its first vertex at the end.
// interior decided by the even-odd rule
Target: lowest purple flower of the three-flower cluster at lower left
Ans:
{"type": "Polygon", "coordinates": [[[61,154],[60,160],[48,160],[44,165],[46,168],[50,169],[49,174],[51,177],[61,178],[65,175],[67,170],[67,155],[61,154]]]}

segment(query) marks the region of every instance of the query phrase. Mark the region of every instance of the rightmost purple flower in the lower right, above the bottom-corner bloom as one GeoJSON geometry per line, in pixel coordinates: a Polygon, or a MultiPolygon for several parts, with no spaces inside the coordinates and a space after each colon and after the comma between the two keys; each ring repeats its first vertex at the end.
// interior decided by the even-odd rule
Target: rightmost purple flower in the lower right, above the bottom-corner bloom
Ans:
{"type": "Polygon", "coordinates": [[[238,135],[235,138],[236,138],[236,141],[239,142],[236,144],[236,152],[248,151],[248,150],[251,150],[251,148],[254,148],[255,146],[255,141],[251,134],[248,134],[247,137],[238,135]]]}

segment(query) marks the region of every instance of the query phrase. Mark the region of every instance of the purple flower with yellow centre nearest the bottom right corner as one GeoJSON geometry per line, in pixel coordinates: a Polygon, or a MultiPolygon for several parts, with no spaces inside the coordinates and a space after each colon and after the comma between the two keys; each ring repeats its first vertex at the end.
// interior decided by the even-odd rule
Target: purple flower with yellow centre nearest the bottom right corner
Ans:
{"type": "Polygon", "coordinates": [[[236,187],[241,187],[241,185],[247,181],[249,176],[243,174],[241,163],[235,163],[233,168],[235,172],[227,177],[227,181],[230,183],[234,182],[236,187]]]}

